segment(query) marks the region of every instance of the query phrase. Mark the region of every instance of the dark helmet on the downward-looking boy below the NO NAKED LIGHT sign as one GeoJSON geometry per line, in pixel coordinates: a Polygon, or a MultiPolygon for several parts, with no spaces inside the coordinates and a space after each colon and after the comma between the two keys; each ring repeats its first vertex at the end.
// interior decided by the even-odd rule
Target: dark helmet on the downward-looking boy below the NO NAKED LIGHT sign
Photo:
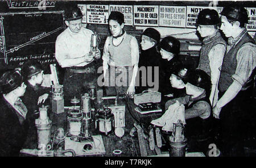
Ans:
{"type": "Polygon", "coordinates": [[[180,41],[172,36],[164,37],[160,42],[160,49],[161,48],[164,49],[165,51],[168,51],[177,55],[180,53],[180,41]]]}

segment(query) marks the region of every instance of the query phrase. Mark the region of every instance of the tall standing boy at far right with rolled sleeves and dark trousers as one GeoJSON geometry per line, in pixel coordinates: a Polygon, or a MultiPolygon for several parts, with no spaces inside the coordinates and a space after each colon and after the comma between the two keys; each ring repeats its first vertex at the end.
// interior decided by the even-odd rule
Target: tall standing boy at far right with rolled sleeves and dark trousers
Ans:
{"type": "Polygon", "coordinates": [[[253,77],[256,66],[256,45],[246,30],[247,10],[241,6],[224,7],[220,30],[228,37],[223,59],[219,100],[213,116],[220,119],[224,154],[243,156],[243,138],[250,129],[250,112],[253,101],[253,77]]]}

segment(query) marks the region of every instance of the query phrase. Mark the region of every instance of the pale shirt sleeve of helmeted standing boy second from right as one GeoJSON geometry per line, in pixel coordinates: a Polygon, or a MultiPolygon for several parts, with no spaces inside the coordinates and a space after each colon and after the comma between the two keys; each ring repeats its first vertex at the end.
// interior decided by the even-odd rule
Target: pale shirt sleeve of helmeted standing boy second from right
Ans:
{"type": "Polygon", "coordinates": [[[222,65],[223,57],[226,52],[224,44],[214,45],[208,54],[210,64],[210,78],[212,84],[216,84],[220,76],[220,67],[222,65]]]}

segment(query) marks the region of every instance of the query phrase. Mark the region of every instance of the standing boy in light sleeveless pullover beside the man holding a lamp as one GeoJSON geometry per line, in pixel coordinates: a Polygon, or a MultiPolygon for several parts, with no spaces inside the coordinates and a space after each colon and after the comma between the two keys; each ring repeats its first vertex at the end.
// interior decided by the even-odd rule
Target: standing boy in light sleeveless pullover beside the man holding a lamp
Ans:
{"type": "Polygon", "coordinates": [[[106,94],[124,91],[133,95],[139,62],[138,41],[123,30],[125,19],[121,12],[111,12],[108,22],[112,36],[107,37],[102,55],[106,94]]]}

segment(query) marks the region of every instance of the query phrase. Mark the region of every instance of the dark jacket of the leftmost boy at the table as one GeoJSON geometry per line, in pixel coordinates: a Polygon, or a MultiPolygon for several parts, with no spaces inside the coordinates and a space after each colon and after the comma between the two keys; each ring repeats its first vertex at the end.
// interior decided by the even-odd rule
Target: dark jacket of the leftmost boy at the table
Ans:
{"type": "Polygon", "coordinates": [[[28,124],[22,123],[22,117],[14,110],[9,102],[0,96],[0,156],[19,156],[26,140],[28,124]]]}

